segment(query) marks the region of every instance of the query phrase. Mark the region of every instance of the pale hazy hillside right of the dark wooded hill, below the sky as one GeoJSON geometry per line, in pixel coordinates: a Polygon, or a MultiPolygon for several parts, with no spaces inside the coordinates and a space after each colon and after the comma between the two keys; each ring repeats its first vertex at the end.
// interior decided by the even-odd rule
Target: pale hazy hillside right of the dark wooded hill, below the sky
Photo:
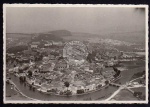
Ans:
{"type": "Polygon", "coordinates": [[[87,39],[112,39],[119,40],[129,43],[136,43],[139,45],[145,45],[145,32],[123,32],[123,33],[112,33],[112,34],[90,34],[72,32],[72,36],[64,37],[66,40],[87,40],[87,39]]]}

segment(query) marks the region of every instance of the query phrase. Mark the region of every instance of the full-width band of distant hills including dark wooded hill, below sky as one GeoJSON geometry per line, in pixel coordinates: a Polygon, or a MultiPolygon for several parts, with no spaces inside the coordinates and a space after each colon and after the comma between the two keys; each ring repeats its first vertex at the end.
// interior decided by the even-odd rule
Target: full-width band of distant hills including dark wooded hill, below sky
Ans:
{"type": "MultiPolygon", "coordinates": [[[[25,34],[25,33],[7,33],[7,37],[36,37],[33,41],[43,40],[80,40],[80,41],[93,41],[99,42],[99,39],[111,39],[118,40],[122,42],[135,43],[137,45],[145,46],[145,32],[121,32],[121,33],[112,33],[112,34],[91,34],[91,33],[82,33],[82,32],[70,32],[68,30],[54,30],[43,33],[35,34],[25,34]]],[[[120,44],[119,42],[117,42],[120,44]]]]}

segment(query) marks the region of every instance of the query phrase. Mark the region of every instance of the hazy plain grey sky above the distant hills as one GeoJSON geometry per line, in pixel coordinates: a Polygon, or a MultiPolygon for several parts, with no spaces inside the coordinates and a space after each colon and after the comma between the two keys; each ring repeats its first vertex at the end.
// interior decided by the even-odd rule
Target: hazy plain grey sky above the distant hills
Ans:
{"type": "Polygon", "coordinates": [[[145,12],[121,7],[7,7],[7,33],[145,31],[145,12]]]}

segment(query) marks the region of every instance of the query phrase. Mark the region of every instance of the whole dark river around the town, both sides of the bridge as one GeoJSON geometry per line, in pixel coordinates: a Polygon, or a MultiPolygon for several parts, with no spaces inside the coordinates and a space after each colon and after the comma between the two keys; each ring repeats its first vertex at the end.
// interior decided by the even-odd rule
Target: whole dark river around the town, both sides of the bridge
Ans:
{"type": "MultiPolygon", "coordinates": [[[[121,75],[122,77],[116,81],[116,83],[125,84],[128,82],[131,77],[138,71],[142,71],[144,67],[134,68],[126,71],[122,71],[121,75]],[[128,75],[126,75],[128,74],[128,75]]],[[[85,94],[85,95],[79,95],[79,96],[57,96],[57,95],[46,95],[44,93],[41,93],[39,91],[31,91],[29,90],[28,86],[21,85],[19,82],[19,78],[15,77],[14,75],[11,75],[11,80],[16,84],[16,86],[19,88],[19,90],[25,94],[28,97],[31,97],[33,99],[37,100],[45,100],[45,101],[59,101],[59,100],[104,100],[110,95],[112,95],[118,88],[114,86],[108,86],[105,89],[95,91],[93,93],[85,94]]]]}

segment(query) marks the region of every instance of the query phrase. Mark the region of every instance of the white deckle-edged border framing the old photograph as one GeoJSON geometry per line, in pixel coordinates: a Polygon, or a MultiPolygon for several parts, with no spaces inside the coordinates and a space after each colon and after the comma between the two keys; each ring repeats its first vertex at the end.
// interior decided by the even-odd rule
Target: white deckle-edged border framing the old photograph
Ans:
{"type": "Polygon", "coordinates": [[[41,104],[146,104],[148,103],[148,5],[125,5],[125,4],[3,4],[3,102],[7,103],[41,103],[41,104]],[[146,39],[145,39],[145,48],[146,48],[146,100],[145,101],[41,101],[41,100],[32,100],[32,101],[8,101],[6,100],[6,8],[7,7],[122,7],[122,8],[145,8],[145,32],[146,32],[146,39]]]}

